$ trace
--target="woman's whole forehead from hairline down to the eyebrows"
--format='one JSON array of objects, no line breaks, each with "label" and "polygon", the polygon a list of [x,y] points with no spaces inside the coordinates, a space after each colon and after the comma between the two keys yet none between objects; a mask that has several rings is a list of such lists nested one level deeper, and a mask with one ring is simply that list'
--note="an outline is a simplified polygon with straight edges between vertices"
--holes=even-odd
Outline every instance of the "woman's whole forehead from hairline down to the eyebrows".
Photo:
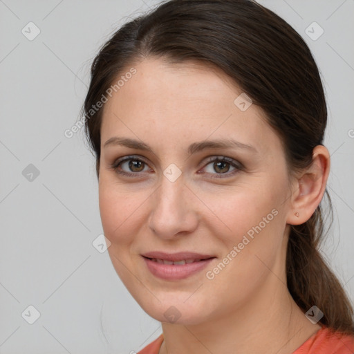
[{"label": "woman's whole forehead from hairline down to the eyebrows", "polygon": [[162,59],[145,59],[133,68],[136,73],[104,106],[102,145],[122,131],[131,138],[164,138],[174,145],[225,135],[245,144],[252,140],[259,149],[272,145],[266,140],[275,142],[263,111],[255,104],[241,111],[235,104],[241,88],[218,68]]}]

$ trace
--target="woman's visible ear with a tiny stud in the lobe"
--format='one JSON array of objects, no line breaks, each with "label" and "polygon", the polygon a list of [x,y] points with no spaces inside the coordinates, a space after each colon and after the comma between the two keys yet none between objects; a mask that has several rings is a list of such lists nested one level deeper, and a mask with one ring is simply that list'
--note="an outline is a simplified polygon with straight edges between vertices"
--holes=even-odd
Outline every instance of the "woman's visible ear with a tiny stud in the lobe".
[{"label": "woman's visible ear with a tiny stud in the lobe", "polygon": [[[323,145],[313,149],[313,162],[295,179],[287,223],[301,225],[313,215],[324,196],[330,171],[330,155]],[[296,216],[298,213],[298,216]]]}]

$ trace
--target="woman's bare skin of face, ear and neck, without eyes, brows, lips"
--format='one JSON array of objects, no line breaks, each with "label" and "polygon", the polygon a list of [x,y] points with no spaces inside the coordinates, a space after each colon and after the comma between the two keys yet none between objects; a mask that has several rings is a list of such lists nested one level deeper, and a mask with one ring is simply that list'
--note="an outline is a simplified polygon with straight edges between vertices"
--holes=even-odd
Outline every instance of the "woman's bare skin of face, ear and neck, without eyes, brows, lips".
[{"label": "woman's bare skin of face, ear and neck, without eyes, brows, lips", "polygon": [[[290,178],[279,136],[255,104],[246,111],[234,104],[242,91],[223,72],[156,58],[134,67],[136,75],[104,106],[100,214],[120,279],[143,310],[162,322],[160,354],[292,353],[320,326],[306,319],[286,287],[288,232],[291,224],[308,220],[322,199],[330,167],[327,149],[316,147],[313,166]],[[153,152],[104,147],[114,136],[145,142]],[[227,138],[257,152],[187,153],[193,142]],[[133,170],[127,162],[120,166],[133,177],[110,167],[131,155],[146,162]],[[232,158],[244,169],[233,174],[235,167],[227,162],[214,168],[207,160],[213,156]],[[182,172],[174,182],[163,174],[171,163]],[[277,216],[207,279],[207,270],[272,209]],[[153,276],[141,257],[153,250],[187,250],[216,259],[192,277],[166,281]],[[164,315],[170,306],[180,314],[174,323]]]}]

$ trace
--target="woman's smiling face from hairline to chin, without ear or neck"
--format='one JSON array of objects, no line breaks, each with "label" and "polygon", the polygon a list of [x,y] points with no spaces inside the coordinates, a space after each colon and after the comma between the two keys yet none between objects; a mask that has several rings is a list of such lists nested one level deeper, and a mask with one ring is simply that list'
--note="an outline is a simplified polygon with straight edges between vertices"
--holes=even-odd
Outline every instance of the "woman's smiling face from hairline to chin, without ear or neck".
[{"label": "woman's smiling face from hairline to chin, without ear or neck", "polygon": [[[160,322],[200,324],[269,298],[283,286],[293,213],[279,136],[220,71],[160,59],[134,68],[101,131],[100,214],[120,279]],[[148,252],[201,256],[165,264]]]}]

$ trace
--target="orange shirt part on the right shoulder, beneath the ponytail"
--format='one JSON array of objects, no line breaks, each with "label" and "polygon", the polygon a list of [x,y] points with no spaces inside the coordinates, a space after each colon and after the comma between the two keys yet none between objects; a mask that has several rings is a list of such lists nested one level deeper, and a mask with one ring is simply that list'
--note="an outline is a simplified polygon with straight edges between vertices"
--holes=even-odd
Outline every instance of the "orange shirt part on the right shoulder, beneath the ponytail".
[{"label": "orange shirt part on the right shoulder, beneath the ponytail", "polygon": [[345,335],[323,326],[293,354],[353,354],[354,335]]}]

